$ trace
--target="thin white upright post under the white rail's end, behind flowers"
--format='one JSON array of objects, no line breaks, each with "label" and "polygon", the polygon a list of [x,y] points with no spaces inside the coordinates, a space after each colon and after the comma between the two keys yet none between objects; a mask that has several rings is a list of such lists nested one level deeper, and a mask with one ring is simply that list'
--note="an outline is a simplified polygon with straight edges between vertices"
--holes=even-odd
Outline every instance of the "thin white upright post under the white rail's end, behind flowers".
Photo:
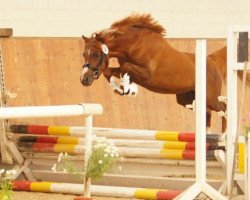
[{"label": "thin white upright post under the white rail's end, behind flowers", "polygon": [[[86,134],[85,134],[85,154],[84,154],[84,174],[86,175],[88,169],[88,160],[91,155],[91,148],[92,148],[92,127],[93,127],[93,115],[88,115],[85,119],[85,127],[86,127]],[[91,179],[84,178],[84,197],[90,197],[90,186],[91,186]]]}]

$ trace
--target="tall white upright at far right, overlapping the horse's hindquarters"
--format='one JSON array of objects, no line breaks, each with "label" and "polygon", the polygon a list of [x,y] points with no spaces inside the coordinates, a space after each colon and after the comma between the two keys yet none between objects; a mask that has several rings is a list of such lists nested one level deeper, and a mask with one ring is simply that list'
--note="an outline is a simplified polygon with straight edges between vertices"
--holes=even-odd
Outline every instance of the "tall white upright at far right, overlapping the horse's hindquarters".
[{"label": "tall white upright at far right, overlapping the horse's hindquarters", "polygon": [[237,33],[231,28],[227,36],[227,192],[232,188],[232,170],[234,162],[234,142],[237,132]]}]

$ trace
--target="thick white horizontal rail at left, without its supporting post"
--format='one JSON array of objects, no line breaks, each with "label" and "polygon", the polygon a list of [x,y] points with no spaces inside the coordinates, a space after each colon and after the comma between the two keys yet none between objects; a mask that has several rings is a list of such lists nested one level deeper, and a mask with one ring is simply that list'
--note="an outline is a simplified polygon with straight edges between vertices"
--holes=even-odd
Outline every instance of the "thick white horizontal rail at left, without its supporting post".
[{"label": "thick white horizontal rail at left, without its supporting post", "polygon": [[0,108],[0,119],[97,115],[102,112],[100,104],[9,107]]}]

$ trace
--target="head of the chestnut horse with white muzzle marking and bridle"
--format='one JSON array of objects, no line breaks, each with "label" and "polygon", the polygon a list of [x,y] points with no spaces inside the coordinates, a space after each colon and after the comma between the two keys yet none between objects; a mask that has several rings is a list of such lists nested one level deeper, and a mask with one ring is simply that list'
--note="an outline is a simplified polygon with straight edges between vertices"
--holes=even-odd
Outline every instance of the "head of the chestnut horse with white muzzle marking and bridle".
[{"label": "head of the chestnut horse with white muzzle marking and bridle", "polygon": [[109,49],[98,34],[93,35],[91,38],[85,36],[82,36],[82,38],[85,41],[83,53],[85,63],[83,64],[80,81],[84,86],[90,86],[108,67]]}]

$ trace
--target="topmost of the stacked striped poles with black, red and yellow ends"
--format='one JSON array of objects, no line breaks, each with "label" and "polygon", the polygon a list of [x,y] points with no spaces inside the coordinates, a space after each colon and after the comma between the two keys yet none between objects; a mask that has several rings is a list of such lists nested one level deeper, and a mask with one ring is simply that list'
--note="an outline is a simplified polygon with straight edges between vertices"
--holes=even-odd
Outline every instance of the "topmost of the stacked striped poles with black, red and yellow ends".
[{"label": "topmost of the stacked striped poles with black, red and yellow ends", "polygon": [[[86,128],[77,126],[41,126],[41,125],[15,125],[11,124],[8,131],[24,135],[64,135],[85,137]],[[111,139],[129,139],[129,140],[161,140],[161,141],[180,141],[194,142],[195,133],[163,130],[134,130],[118,128],[93,127],[97,136],[103,136]],[[207,142],[224,141],[219,134],[206,135]]]}]

